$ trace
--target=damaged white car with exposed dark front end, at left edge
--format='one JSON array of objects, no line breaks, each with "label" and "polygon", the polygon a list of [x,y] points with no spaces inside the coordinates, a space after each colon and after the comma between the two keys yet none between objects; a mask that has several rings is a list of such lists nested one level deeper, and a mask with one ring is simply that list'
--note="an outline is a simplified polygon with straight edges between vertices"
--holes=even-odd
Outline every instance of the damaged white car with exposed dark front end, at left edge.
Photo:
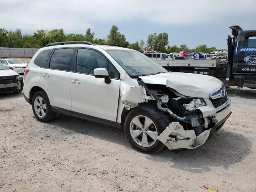
[{"label": "damaged white car with exposed dark front end, at left edge", "polygon": [[0,63],[0,93],[20,93],[23,90],[23,78],[20,74]]}]

